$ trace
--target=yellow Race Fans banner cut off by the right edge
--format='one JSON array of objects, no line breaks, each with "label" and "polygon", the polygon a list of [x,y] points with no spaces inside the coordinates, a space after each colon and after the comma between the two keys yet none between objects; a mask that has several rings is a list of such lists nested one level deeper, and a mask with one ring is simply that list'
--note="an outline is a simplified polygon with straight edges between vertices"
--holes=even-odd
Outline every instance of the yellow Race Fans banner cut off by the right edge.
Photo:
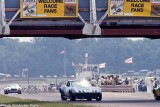
[{"label": "yellow Race Fans banner cut off by the right edge", "polygon": [[160,16],[160,0],[109,0],[108,16]]}]

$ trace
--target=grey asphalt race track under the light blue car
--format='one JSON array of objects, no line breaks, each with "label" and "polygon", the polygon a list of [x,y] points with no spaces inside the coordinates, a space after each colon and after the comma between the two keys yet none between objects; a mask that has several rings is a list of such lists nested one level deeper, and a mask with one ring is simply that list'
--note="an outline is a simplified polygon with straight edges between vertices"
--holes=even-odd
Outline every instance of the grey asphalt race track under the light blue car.
[{"label": "grey asphalt race track under the light blue car", "polygon": [[[3,94],[3,91],[0,91]],[[152,94],[147,94],[145,92],[136,93],[112,93],[103,92],[102,101],[86,101],[86,100],[76,100],[76,101],[61,101],[60,93],[22,93],[22,94],[8,94],[6,96],[18,97],[21,99],[36,99],[40,101],[50,101],[50,102],[65,102],[76,105],[92,105],[96,107],[160,107],[160,101],[154,100]]]}]

